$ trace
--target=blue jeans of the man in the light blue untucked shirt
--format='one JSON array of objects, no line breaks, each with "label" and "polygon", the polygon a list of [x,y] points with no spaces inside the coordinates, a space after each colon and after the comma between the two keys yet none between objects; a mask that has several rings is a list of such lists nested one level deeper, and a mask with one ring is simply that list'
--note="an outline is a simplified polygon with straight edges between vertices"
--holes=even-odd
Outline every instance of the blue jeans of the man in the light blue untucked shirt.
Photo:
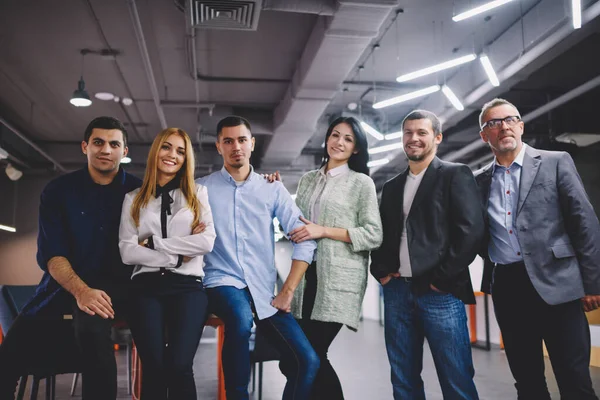
[{"label": "blue jeans of the man in the light blue untucked shirt", "polygon": [[[223,373],[227,400],[247,400],[250,381],[249,339],[253,304],[249,290],[233,286],[207,289],[210,309],[225,323]],[[281,354],[280,369],[287,378],[283,399],[308,399],[319,370],[319,357],[291,314],[278,312],[256,325]]]}]

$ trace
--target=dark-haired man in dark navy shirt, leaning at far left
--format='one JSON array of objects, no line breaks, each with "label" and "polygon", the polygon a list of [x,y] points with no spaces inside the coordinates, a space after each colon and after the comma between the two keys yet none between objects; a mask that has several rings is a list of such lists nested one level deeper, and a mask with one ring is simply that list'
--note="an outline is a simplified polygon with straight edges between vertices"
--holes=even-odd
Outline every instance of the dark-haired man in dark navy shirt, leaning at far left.
[{"label": "dark-haired man in dark navy shirt, leaning at far left", "polygon": [[131,276],[119,255],[119,222],[125,194],[141,181],[119,167],[127,131],[117,119],[90,122],[81,149],[87,167],[54,179],[41,195],[37,261],[44,276],[0,346],[0,399],[13,398],[25,372],[66,369],[74,343],[83,398],[116,398],[110,332],[115,311],[125,313]]}]

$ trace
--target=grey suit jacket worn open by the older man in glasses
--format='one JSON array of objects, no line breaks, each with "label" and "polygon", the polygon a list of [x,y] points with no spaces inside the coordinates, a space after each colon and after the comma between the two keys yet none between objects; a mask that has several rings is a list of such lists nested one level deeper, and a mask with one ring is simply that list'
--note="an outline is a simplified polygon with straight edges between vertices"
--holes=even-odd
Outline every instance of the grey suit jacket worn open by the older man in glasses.
[{"label": "grey suit jacket worn open by the older man in glasses", "polygon": [[[475,172],[487,210],[492,164]],[[600,224],[568,153],[527,146],[515,227],[527,273],[539,295],[555,305],[600,294]],[[487,212],[486,226],[487,226]],[[493,265],[486,259],[482,290],[490,292]]]}]

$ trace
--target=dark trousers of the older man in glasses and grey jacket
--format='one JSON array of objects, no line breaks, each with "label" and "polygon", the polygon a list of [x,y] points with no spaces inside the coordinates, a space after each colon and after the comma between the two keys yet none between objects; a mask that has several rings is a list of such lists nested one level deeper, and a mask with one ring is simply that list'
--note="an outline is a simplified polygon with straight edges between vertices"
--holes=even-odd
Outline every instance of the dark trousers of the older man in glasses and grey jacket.
[{"label": "dark trousers of the older man in glasses and grey jacket", "polygon": [[547,304],[523,263],[494,268],[492,299],[519,400],[550,399],[542,341],[561,399],[597,399],[589,369],[590,328],[579,300]]}]

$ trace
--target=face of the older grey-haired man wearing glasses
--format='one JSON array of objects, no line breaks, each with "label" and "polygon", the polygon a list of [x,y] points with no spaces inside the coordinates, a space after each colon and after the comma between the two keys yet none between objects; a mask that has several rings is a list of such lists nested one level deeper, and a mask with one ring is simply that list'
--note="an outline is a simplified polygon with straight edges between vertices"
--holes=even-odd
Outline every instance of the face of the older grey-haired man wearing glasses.
[{"label": "face of the older grey-haired man wearing glasses", "polygon": [[[492,119],[504,119],[515,115],[519,115],[519,111],[515,107],[510,104],[502,104],[487,110],[481,122],[484,125]],[[524,127],[523,121],[518,121],[514,125],[502,122],[496,129],[486,126],[479,132],[479,135],[484,142],[490,145],[495,154],[518,153],[523,147],[521,137],[523,136]]]}]

